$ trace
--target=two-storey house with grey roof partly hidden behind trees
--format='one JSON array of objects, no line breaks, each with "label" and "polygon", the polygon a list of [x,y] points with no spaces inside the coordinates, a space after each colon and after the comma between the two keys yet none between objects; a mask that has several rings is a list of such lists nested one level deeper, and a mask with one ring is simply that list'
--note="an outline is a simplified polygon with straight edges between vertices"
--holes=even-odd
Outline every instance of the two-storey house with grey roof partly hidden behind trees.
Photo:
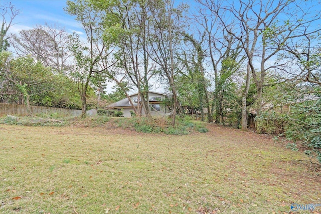
[{"label": "two-storey house with grey roof partly hidden behind trees", "polygon": [[[138,100],[138,93],[129,95],[129,97],[135,107],[137,107],[138,102],[141,103],[141,100],[140,101]],[[166,97],[165,94],[149,91],[148,97],[149,97],[148,101],[149,101],[150,114],[152,116],[164,116],[170,113],[169,107],[163,103]],[[118,102],[110,104],[106,108],[112,109],[114,111],[122,111],[124,113],[123,114],[124,117],[131,117],[130,112],[131,111],[134,112],[134,109],[131,106],[128,98],[125,98],[125,99],[119,100]],[[145,115],[143,108],[141,110],[141,115]]]}]

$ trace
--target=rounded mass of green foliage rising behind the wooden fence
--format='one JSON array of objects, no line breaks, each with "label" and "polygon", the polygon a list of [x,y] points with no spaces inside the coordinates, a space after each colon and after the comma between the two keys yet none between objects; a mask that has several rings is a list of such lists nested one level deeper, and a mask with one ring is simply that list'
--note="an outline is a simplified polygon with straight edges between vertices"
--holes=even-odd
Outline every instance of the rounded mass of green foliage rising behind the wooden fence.
[{"label": "rounded mass of green foliage rising behind the wooden fence", "polygon": [[13,58],[0,53],[1,102],[49,107],[79,108],[76,85],[63,75],[54,75],[31,57]]}]

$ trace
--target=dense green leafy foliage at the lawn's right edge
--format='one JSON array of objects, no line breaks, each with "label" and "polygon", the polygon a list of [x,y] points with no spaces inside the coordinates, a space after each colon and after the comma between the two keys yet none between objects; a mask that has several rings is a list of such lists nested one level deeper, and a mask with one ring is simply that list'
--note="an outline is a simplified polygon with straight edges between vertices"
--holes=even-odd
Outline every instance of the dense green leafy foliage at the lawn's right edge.
[{"label": "dense green leafy foliage at the lawn's right edge", "polygon": [[[311,90],[304,88],[306,92]],[[264,133],[280,134],[293,142],[301,142],[306,147],[305,153],[321,162],[321,88],[312,88],[314,93],[299,93],[299,97],[276,93],[286,104],[275,103],[269,111],[257,117],[257,123]]]}]

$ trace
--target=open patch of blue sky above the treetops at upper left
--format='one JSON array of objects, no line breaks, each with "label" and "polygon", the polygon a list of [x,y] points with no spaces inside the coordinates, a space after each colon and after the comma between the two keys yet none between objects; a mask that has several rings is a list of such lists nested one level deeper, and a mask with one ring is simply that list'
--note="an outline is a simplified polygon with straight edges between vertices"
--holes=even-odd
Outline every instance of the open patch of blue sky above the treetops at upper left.
[{"label": "open patch of blue sky above the treetops at upper left", "polygon": [[81,26],[73,17],[65,13],[66,0],[1,0],[1,5],[12,3],[21,14],[14,20],[15,25],[10,33],[18,33],[23,29],[32,29],[37,24],[59,25],[68,33],[82,32]]}]

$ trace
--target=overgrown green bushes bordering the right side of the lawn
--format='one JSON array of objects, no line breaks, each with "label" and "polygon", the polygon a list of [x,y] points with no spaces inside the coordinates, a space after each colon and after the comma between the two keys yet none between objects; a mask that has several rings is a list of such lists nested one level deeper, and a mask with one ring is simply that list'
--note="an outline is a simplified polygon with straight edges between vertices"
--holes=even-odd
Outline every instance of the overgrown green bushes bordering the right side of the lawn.
[{"label": "overgrown green bushes bordering the right side of the lawn", "polygon": [[264,112],[256,117],[257,128],[263,133],[282,135],[306,147],[305,154],[321,162],[321,92],[317,100],[295,103],[288,113]]}]

